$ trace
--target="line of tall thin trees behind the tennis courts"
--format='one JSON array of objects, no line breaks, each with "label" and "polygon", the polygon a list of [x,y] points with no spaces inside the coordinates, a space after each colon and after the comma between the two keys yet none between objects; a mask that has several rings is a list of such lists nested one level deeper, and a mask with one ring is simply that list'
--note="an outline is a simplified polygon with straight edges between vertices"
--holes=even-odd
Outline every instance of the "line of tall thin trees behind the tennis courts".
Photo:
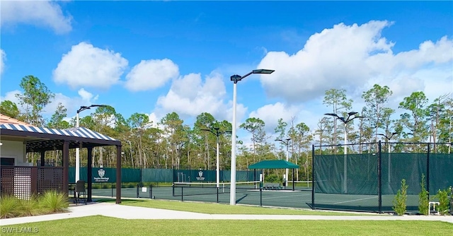
[{"label": "line of tall thin trees behind the tennis courts", "polygon": [[[67,122],[67,109],[59,103],[52,117],[42,116],[44,107],[55,98],[47,86],[35,76],[22,78],[20,86],[23,93],[17,94],[19,109],[10,100],[1,101],[0,112],[28,124],[46,126],[54,129],[67,129],[76,126],[75,118]],[[319,148],[323,154],[342,153],[341,138],[346,134],[349,143],[375,143],[379,140],[394,142],[430,142],[452,143],[453,98],[451,94],[440,95],[430,102],[423,92],[417,91],[399,102],[399,108],[405,112],[396,116],[395,110],[386,107],[392,91],[388,86],[374,85],[362,93],[365,107],[352,114],[352,100],[346,90],[333,88],[326,90],[323,104],[337,116],[324,116],[319,119],[316,129],[311,130],[304,122],[297,123],[297,117],[289,121],[278,119],[275,135],[266,134],[265,122],[259,117],[250,117],[239,129],[251,134],[251,140],[237,141],[238,170],[246,170],[248,165],[260,160],[285,159],[286,150],[289,160],[301,168],[297,170],[297,179],[309,179],[311,175],[311,145],[330,145],[331,148]],[[349,113],[349,114],[348,114]],[[352,114],[351,120],[345,119]],[[398,119],[392,119],[398,117]],[[338,122],[340,120],[340,122]],[[343,122],[342,122],[343,121]],[[358,124],[354,124],[357,122]],[[222,170],[229,170],[231,164],[231,123],[215,119],[212,114],[199,114],[192,126],[184,124],[176,112],[166,114],[158,124],[149,121],[147,114],[134,113],[123,117],[114,107],[97,107],[94,112],[79,119],[84,126],[101,134],[116,138],[122,142],[122,167],[134,168],[202,168],[214,170],[216,167],[217,136],[205,131],[218,128],[219,165]],[[281,140],[281,141],[276,141]],[[246,144],[251,143],[251,144]],[[364,144],[365,145],[365,144]],[[399,148],[399,149],[397,149]],[[433,145],[435,153],[451,153],[451,145]],[[348,149],[350,149],[348,147]],[[362,145],[348,150],[362,153]],[[395,146],[394,151],[417,151],[411,146]],[[418,150],[420,151],[420,150]],[[71,151],[70,165],[74,165],[75,154]],[[86,163],[86,155],[81,150],[81,165]],[[114,166],[115,148],[99,147],[93,150],[93,166]],[[35,161],[35,155],[29,155]],[[61,163],[61,153],[46,153],[46,158]],[[270,171],[280,175],[281,172]],[[268,173],[269,174],[269,173]]]}]

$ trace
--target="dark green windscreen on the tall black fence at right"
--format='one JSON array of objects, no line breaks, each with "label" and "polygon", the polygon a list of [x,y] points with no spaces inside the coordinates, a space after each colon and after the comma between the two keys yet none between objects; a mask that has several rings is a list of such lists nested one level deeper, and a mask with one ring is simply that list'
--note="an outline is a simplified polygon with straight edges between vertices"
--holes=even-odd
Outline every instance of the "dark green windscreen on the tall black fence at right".
[{"label": "dark green windscreen on the tall black fence at right", "polygon": [[[429,175],[428,175],[429,165]],[[379,194],[379,153],[316,155],[315,192],[325,194]],[[381,153],[382,195],[396,194],[406,179],[408,194],[420,193],[422,175],[430,194],[453,185],[452,154]]]}]

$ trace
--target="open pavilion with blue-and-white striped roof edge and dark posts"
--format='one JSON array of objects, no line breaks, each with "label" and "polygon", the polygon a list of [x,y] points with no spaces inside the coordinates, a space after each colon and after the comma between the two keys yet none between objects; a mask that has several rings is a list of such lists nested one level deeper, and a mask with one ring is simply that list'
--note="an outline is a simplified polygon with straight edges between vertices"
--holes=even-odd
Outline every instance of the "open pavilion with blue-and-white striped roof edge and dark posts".
[{"label": "open pavilion with blue-and-white striped roof edge and dark posts", "polygon": [[70,129],[47,129],[25,124],[0,124],[1,140],[23,141],[26,152],[41,153],[40,165],[45,165],[45,152],[61,150],[63,153],[63,190],[69,192],[69,149],[86,148],[88,151],[87,200],[91,199],[93,184],[93,148],[116,146],[116,203],[121,203],[121,141],[84,127]]}]

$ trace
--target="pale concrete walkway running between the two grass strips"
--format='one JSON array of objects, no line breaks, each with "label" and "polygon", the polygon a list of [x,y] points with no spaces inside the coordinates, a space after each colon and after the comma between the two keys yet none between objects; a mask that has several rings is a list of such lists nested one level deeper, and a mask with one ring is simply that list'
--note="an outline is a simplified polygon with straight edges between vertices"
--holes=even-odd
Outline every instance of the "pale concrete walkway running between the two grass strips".
[{"label": "pale concrete walkway running between the two grass strips", "polygon": [[186,211],[172,211],[139,206],[125,206],[114,203],[88,203],[70,206],[69,213],[45,216],[28,216],[1,219],[0,225],[15,225],[38,221],[59,220],[84,216],[109,216],[122,219],[189,219],[189,220],[430,220],[453,223],[453,216],[298,216],[298,215],[226,215]]}]

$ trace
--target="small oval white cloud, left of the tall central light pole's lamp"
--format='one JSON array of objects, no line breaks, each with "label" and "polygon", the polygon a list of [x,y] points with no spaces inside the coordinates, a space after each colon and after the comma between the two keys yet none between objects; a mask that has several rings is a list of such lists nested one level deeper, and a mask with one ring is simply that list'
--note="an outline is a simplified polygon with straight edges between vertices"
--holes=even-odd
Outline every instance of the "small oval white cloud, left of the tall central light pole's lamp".
[{"label": "small oval white cloud, left of the tall central light pole's lamp", "polygon": [[178,75],[178,66],[170,59],[140,61],[127,74],[125,87],[132,91],[155,89]]}]

